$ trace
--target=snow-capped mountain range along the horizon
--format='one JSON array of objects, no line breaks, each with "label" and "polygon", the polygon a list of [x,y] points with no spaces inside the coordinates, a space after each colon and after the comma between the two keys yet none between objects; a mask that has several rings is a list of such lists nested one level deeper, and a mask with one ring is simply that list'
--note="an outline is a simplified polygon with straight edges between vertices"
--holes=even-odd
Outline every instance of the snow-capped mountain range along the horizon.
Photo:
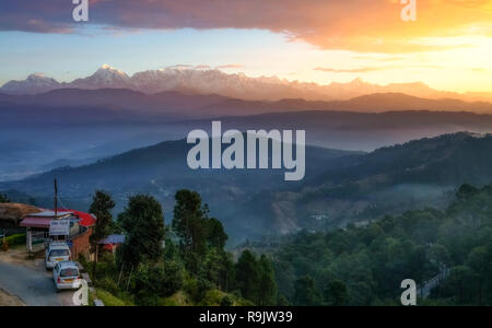
[{"label": "snow-capped mountain range along the horizon", "polygon": [[58,89],[129,89],[148,94],[179,91],[187,94],[218,94],[247,101],[279,101],[304,98],[308,101],[349,99],[374,93],[405,93],[425,98],[459,98],[464,101],[491,101],[492,94],[453,93],[429,87],[424,83],[371,84],[355,79],[349,83],[319,85],[276,77],[249,78],[244,73],[227,74],[218,69],[165,68],[134,73],[117,70],[108,65],[94,74],[72,82],[58,82],[36,73],[24,81],[10,81],[0,87],[0,93],[33,95]]}]

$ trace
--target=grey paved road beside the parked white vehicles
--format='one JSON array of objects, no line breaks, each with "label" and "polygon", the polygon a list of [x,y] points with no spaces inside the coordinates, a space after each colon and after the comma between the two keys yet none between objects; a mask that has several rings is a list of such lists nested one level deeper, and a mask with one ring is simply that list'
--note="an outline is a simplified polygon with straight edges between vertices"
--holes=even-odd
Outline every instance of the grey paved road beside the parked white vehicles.
[{"label": "grey paved road beside the parked white vehicles", "polygon": [[27,306],[71,306],[73,292],[56,293],[51,272],[0,261],[0,289]]}]

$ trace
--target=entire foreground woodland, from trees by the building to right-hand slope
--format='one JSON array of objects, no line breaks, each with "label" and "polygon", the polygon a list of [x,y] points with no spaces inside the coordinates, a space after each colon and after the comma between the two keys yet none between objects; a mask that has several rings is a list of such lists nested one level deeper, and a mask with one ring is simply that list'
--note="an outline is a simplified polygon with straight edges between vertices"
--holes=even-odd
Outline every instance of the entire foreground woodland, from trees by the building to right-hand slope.
[{"label": "entire foreground woodland, from trees by the building to right-hand slope", "polygon": [[[82,259],[93,297],[108,305],[400,305],[403,280],[422,288],[438,277],[419,305],[492,305],[492,185],[462,185],[445,210],[301,231],[231,251],[198,192],[179,190],[175,203],[166,224],[151,196],[130,197],[113,218],[112,197],[94,195],[98,259]],[[126,235],[115,255],[96,248],[110,233]]]}]

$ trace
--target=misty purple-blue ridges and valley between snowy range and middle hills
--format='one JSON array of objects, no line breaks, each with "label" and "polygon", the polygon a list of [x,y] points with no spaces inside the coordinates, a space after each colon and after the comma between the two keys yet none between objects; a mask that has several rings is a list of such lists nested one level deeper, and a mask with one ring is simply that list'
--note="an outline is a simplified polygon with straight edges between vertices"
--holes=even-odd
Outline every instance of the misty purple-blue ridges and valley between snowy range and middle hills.
[{"label": "misty purple-blue ridges and valley between snowy range and middle hills", "polygon": [[308,144],[373,151],[443,133],[492,131],[491,115],[471,112],[492,113],[492,105],[391,93],[331,102],[244,101],[128,89],[0,94],[0,180],[185,138],[194,129],[210,129],[214,119],[224,129],[242,131],[304,129]]}]

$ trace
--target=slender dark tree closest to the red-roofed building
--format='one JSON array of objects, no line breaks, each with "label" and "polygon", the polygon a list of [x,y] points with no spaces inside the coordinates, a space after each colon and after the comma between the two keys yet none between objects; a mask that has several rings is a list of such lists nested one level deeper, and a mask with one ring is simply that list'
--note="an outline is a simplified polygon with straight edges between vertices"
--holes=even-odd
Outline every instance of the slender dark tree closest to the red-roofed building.
[{"label": "slender dark tree closest to the red-roofed building", "polygon": [[92,198],[92,204],[89,209],[91,214],[96,216],[96,224],[94,231],[90,237],[92,251],[95,253],[93,276],[95,277],[96,263],[99,256],[98,242],[106,238],[110,234],[113,225],[112,210],[115,208],[115,202],[112,197],[105,191],[97,190]]}]

